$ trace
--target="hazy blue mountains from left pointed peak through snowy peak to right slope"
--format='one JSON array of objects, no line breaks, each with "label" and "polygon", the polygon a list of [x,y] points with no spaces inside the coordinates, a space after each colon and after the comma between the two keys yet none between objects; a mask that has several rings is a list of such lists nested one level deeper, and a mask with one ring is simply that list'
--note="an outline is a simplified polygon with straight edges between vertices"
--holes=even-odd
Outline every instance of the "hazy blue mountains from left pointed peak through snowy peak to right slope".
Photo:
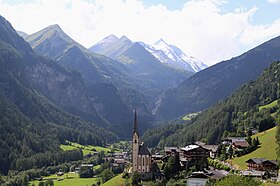
[{"label": "hazy blue mountains from left pointed peak through snowy peak to right slope", "polygon": [[[143,129],[155,120],[170,120],[204,110],[242,84],[256,79],[280,57],[278,38],[206,68],[201,61],[163,39],[148,45],[133,42],[126,36],[110,35],[86,49],[58,25],[32,35],[21,34],[37,54],[81,74],[90,100],[88,108],[95,115],[90,115],[91,111],[81,105],[69,107],[69,103],[49,92],[44,95],[59,101],[62,109],[113,131],[119,130],[119,124],[130,129],[129,115],[135,107],[145,121]],[[122,132],[117,131],[124,135]]]}]

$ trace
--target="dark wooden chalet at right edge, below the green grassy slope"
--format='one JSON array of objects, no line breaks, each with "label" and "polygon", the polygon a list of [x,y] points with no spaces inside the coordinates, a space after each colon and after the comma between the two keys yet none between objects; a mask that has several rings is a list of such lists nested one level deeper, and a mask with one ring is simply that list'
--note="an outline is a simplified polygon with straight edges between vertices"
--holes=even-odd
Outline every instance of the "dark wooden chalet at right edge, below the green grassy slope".
[{"label": "dark wooden chalet at right edge, below the green grassy slope", "polygon": [[276,160],[267,160],[265,158],[251,158],[246,161],[248,169],[257,171],[274,171],[278,169]]}]

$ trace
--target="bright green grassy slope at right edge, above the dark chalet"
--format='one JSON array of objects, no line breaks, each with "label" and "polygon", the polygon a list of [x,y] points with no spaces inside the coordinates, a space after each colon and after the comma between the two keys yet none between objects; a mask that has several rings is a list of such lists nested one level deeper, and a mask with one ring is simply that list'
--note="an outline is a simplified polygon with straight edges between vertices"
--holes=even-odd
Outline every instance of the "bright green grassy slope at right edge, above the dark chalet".
[{"label": "bright green grassy slope at right edge, above the dark chalet", "polygon": [[252,138],[259,138],[261,147],[257,150],[246,154],[241,157],[234,158],[232,163],[236,165],[237,168],[245,170],[247,168],[246,161],[250,158],[266,158],[269,160],[276,159],[276,127],[269,129],[267,131],[255,134]]}]

